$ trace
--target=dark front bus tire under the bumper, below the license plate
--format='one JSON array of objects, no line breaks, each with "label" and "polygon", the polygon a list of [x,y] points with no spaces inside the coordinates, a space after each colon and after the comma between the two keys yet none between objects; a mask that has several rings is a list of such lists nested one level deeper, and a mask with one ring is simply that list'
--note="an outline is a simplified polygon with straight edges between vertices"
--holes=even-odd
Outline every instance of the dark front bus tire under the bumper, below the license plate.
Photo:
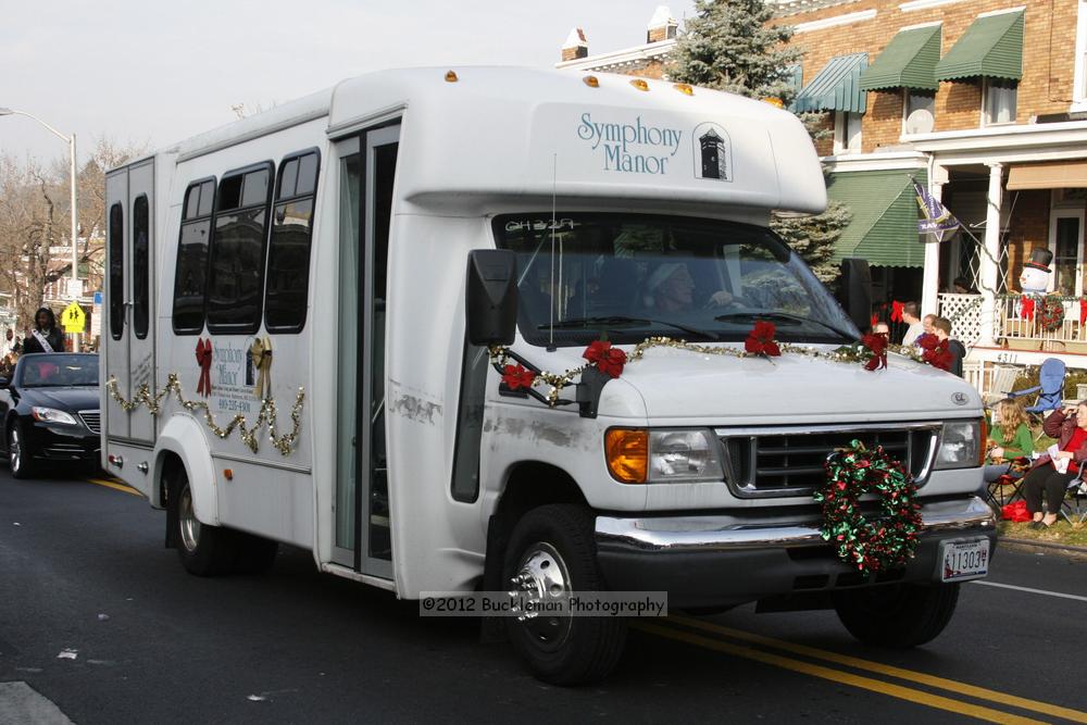
[{"label": "dark front bus tire under the bumper, below the license plate", "polygon": [[895,649],[935,639],[958,603],[958,584],[898,584],[835,595],[835,611],[849,634],[865,645]]}]

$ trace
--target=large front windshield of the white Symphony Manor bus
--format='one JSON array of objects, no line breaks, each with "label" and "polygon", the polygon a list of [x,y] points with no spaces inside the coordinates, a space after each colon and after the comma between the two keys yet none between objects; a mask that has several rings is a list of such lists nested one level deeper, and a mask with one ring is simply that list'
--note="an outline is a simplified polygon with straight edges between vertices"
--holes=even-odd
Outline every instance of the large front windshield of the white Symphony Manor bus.
[{"label": "large front windshield of the white Symphony Manor bus", "polygon": [[741,340],[755,321],[777,339],[837,342],[857,327],[799,255],[764,227],[613,213],[501,215],[517,254],[518,326],[532,345],[650,336]]}]

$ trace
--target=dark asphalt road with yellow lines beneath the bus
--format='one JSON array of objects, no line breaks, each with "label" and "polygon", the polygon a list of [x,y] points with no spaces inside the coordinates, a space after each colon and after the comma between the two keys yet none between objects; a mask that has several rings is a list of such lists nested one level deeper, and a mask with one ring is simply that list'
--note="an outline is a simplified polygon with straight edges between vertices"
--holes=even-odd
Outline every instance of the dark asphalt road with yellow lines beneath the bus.
[{"label": "dark asphalt road with yellow lines beneath the bus", "polygon": [[747,607],[645,620],[604,685],[562,689],[476,621],[420,618],[304,551],[265,576],[190,576],[163,526],[122,490],[0,471],[0,721],[1087,723],[1087,561],[1053,552],[1001,550],[988,582],[1007,586],[963,585],[916,650]]}]

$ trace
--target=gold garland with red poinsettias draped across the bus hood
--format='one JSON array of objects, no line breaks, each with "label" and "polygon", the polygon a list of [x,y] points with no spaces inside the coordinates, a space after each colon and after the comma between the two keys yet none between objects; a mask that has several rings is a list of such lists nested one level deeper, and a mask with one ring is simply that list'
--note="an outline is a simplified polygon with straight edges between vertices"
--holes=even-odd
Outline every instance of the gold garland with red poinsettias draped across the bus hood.
[{"label": "gold garland with red poinsettias draped across the bus hood", "polygon": [[921,350],[912,346],[891,345],[886,335],[865,335],[859,342],[824,351],[812,346],[778,342],[774,339],[776,333],[777,329],[772,322],[759,321],[754,323],[754,327],[744,341],[742,350],[720,345],[698,345],[671,337],[649,337],[634,346],[630,354],[613,347],[607,339],[601,339],[591,342],[582,353],[586,360],[585,364],[562,373],[532,371],[514,360],[510,348],[502,345],[490,347],[490,361],[502,371],[502,384],[511,390],[529,390],[539,385],[550,386],[551,389],[546,396],[546,401],[551,408],[559,404],[559,396],[562,390],[572,385],[587,368],[595,367],[611,378],[617,378],[623,374],[623,368],[627,363],[641,360],[646,352],[653,348],[687,350],[702,355],[765,358],[766,360],[787,352],[829,362],[860,363],[867,371],[887,367],[887,353],[892,352],[944,371],[951,368],[951,352],[948,349],[947,340],[938,340],[933,335],[927,336],[922,341]]}]

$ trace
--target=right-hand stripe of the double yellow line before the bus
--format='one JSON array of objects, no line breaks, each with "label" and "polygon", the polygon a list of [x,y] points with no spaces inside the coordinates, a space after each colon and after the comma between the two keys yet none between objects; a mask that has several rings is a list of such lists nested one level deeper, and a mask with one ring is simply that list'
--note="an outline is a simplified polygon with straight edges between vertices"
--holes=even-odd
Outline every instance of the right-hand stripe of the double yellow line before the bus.
[{"label": "right-hand stripe of the double yellow line before the bus", "polygon": [[902,667],[896,667],[880,662],[873,662],[872,660],[862,660],[848,654],[839,654],[837,652],[815,649],[814,647],[796,645],[782,639],[774,639],[773,637],[765,637],[763,635],[744,632],[742,629],[734,629],[732,627],[725,627],[711,622],[702,622],[701,620],[694,620],[687,616],[672,615],[669,618],[696,629],[712,632],[719,635],[724,635],[725,637],[732,637],[733,639],[772,647],[774,649],[784,650],[794,654],[803,654],[804,657],[810,657],[816,660],[825,660],[827,662],[834,662],[835,664],[844,664],[849,667],[855,667],[857,670],[866,670],[880,675],[889,675],[899,679],[917,683],[919,685],[927,685],[928,687],[948,690],[958,695],[965,695],[979,700],[989,700],[998,704],[1007,704],[1012,705],[1013,708],[1033,710],[1038,713],[1071,720],[1075,723],[1087,723],[1087,712],[1073,710],[1071,708],[1062,708],[1048,702],[1028,700],[1026,698],[1016,697],[1007,692],[990,690],[975,685],[966,685],[965,683],[937,677],[936,675],[928,675],[923,672],[903,670]]}]

